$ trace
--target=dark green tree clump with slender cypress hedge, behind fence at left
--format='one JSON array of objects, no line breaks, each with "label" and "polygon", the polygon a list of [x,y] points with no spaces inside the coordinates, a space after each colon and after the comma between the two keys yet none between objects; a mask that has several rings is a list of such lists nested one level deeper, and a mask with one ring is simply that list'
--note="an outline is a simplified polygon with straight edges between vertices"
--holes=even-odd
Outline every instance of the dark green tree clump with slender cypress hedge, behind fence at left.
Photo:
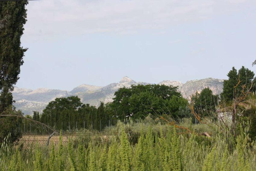
[{"label": "dark green tree clump with slender cypress hedge, behind fence at left", "polygon": [[[36,119],[34,119],[36,118]],[[38,120],[39,115],[34,112],[33,119]],[[77,125],[92,125],[93,129],[100,130],[108,123],[102,122],[109,119],[108,110],[101,103],[98,109],[89,104],[82,104],[77,96],[67,98],[56,98],[55,101],[49,102],[40,117],[40,122],[51,125],[58,130],[72,130],[72,123]],[[75,127],[76,128],[76,127]]]}]

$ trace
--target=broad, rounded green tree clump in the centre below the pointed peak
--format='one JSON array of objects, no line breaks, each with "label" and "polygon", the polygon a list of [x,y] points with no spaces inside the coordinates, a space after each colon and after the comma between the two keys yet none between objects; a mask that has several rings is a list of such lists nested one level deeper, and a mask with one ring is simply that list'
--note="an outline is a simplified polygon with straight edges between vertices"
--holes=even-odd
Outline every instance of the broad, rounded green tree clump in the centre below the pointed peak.
[{"label": "broad, rounded green tree clump in the centre below the pointed peak", "polygon": [[148,114],[171,113],[177,116],[188,105],[177,87],[167,85],[132,85],[115,92],[113,102],[107,104],[114,117],[145,118]]}]

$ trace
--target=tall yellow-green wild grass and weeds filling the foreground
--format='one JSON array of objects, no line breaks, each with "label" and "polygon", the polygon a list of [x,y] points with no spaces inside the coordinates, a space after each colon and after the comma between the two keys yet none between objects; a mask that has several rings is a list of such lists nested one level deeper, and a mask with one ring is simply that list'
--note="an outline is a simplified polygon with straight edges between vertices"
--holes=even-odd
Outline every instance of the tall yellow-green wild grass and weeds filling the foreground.
[{"label": "tall yellow-green wild grass and weeds filling the foreground", "polygon": [[[1,170],[256,170],[256,144],[246,130],[237,137],[213,123],[180,125],[187,133],[147,118],[105,131],[117,134],[79,134],[67,144],[7,146],[0,149]],[[110,130],[109,130],[110,129]],[[198,133],[207,131],[211,137]],[[79,133],[88,133],[80,130]]]}]

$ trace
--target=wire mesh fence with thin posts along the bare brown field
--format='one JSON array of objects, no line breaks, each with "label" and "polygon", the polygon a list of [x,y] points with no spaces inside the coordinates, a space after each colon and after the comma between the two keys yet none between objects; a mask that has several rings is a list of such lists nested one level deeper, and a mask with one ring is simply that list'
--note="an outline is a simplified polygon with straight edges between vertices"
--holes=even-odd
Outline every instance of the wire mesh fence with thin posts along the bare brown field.
[{"label": "wire mesh fence with thin posts along the bare brown field", "polygon": [[[170,122],[178,123],[179,120],[170,120]],[[195,121],[192,119],[192,121]],[[76,121],[76,122],[59,122],[53,124],[36,124],[34,122],[23,122],[22,125],[18,126],[18,131],[22,133],[22,138],[19,140],[20,144],[29,148],[29,146],[33,146],[38,143],[41,145],[45,145],[47,143],[48,137],[53,133],[52,129],[56,131],[62,131],[63,140],[62,143],[67,143],[69,138],[92,138],[98,137],[102,140],[109,140],[111,137],[120,134],[117,129],[113,128],[117,125],[119,120],[105,120],[105,121],[95,121],[95,122],[86,122],[86,121]],[[132,120],[125,119],[122,121],[123,124],[131,124],[135,126],[139,123],[147,123],[145,120]],[[149,122],[148,122],[149,123]],[[196,121],[195,121],[196,123]],[[150,121],[150,124],[167,124],[164,120],[153,120]],[[111,128],[112,127],[112,128]],[[50,144],[54,143],[55,145],[59,142],[59,134],[54,134],[54,136],[50,139]]]}]

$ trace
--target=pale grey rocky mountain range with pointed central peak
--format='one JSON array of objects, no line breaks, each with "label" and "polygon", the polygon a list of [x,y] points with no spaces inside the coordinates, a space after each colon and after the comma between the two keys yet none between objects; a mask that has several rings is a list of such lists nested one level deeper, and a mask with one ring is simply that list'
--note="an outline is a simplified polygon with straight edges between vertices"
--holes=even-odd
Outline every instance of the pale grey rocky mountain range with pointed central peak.
[{"label": "pale grey rocky mountain range with pointed central peak", "polygon": [[[196,91],[200,92],[202,89],[209,87],[214,94],[220,94],[223,89],[223,79],[206,78],[200,80],[187,81],[182,83],[180,81],[165,80],[159,82],[159,85],[173,85],[178,86],[178,91],[181,92],[184,98],[189,98],[190,95]],[[33,111],[42,112],[50,101],[55,98],[78,96],[84,104],[98,106],[100,102],[108,103],[114,98],[114,93],[119,88],[129,88],[131,85],[147,85],[147,82],[135,82],[127,76],[124,76],[119,82],[111,83],[104,87],[82,84],[71,91],[38,88],[36,90],[14,87],[12,91],[14,106],[21,110],[24,114],[33,114]]]}]

